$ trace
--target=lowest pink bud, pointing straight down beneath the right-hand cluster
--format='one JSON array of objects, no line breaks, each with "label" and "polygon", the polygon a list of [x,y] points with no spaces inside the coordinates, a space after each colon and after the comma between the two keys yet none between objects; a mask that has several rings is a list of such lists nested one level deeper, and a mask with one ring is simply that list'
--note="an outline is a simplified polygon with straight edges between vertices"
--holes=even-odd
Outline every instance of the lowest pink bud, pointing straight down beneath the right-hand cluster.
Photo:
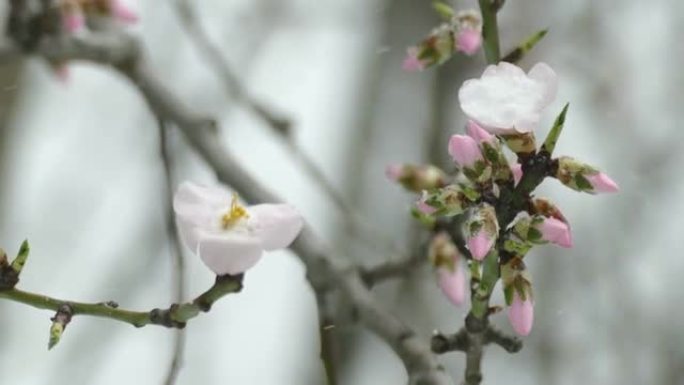
[{"label": "lowest pink bud, pointing straight down beneath the right-hand cluster", "polygon": [[508,308],[508,320],[518,335],[526,336],[534,321],[532,283],[520,258],[512,258],[501,266],[504,297]]}]

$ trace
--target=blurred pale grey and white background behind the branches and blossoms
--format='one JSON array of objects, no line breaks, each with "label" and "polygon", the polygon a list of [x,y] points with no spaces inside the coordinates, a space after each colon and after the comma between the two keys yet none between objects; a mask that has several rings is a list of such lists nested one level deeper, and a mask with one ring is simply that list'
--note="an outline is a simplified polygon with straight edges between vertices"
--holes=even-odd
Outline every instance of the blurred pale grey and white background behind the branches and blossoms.
[{"label": "blurred pale grey and white background behind the branches and blossoms", "polygon": [[[220,118],[225,145],[317,232],[349,258],[387,258],[350,241],[342,216],[302,171],[285,142],[226,96],[181,27],[170,0],[132,4],[132,28],[167,85]],[[457,1],[456,8],[476,7]],[[408,45],[438,23],[420,0],[203,0],[201,24],[249,93],[295,122],[294,140],[369,222],[405,250],[418,228],[414,197],[388,182],[393,162],[448,165],[446,143],[463,131],[456,96],[478,77],[483,55],[405,73]],[[0,7],[2,14],[7,4]],[[549,180],[571,222],[575,247],[539,247],[526,258],[536,319],[524,349],[487,349],[485,384],[684,384],[684,3],[508,1],[499,16],[502,50],[550,27],[520,65],[559,75],[545,135],[570,102],[558,154],[606,171],[617,195],[590,196]],[[81,301],[116,300],[147,310],[173,298],[165,231],[168,194],[154,116],[113,71],[69,65],[60,82],[38,59],[0,64],[0,246],[32,253],[20,288]],[[184,138],[170,133],[174,183],[215,183]],[[212,274],[186,251],[188,295]],[[443,298],[427,267],[374,289],[426,339],[454,332],[467,307]],[[503,304],[500,290],[494,303]],[[48,352],[50,312],[0,302],[1,384],[161,384],[174,332],[136,330],[76,317]],[[377,337],[343,319],[334,330],[340,383],[403,384],[400,361]],[[505,315],[493,317],[510,332]],[[245,289],[190,322],[179,384],[323,384],[318,319],[304,269],[273,252],[246,275]],[[460,353],[440,357],[460,381]]]}]

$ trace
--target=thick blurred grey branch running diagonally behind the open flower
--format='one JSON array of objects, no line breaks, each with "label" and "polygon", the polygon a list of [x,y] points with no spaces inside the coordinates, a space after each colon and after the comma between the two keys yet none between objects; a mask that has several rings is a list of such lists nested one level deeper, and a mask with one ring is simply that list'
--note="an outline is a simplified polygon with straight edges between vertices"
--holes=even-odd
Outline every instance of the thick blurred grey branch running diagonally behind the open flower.
[{"label": "thick blurred grey branch running diagonally behind the open flower", "polygon": [[[47,59],[89,60],[113,66],[138,87],[155,114],[181,129],[188,142],[214,168],[219,180],[232,185],[249,201],[280,201],[254,180],[222,145],[215,120],[188,107],[147,68],[137,40],[109,31],[87,37],[49,39],[40,45],[38,53]],[[452,384],[426,341],[384,310],[364,284],[358,269],[334,258],[334,252],[309,226],[304,227],[291,249],[306,265],[314,290],[327,290],[330,285],[338,288],[356,309],[359,320],[385,340],[404,362],[411,384]]]}]

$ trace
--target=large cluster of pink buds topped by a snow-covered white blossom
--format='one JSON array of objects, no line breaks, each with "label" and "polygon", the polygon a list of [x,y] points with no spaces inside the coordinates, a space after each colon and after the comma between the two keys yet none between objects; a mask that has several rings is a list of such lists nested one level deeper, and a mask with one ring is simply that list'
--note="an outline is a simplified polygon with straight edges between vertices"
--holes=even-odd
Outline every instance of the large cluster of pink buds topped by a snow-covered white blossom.
[{"label": "large cluster of pink buds topped by a snow-covered white blossom", "polygon": [[[467,134],[453,135],[448,143],[457,166],[455,175],[434,166],[424,166],[435,175],[432,178],[416,178],[420,166],[388,170],[391,179],[420,193],[414,213],[433,229],[428,255],[444,294],[454,304],[464,301],[466,279],[460,261],[467,259],[473,309],[482,298],[486,305],[496,281],[480,286],[484,265],[498,264],[495,271],[503,282],[508,317],[520,335],[530,333],[534,318],[525,256],[537,245],[569,248],[573,243],[561,211],[551,201],[533,197],[533,190],[546,177],[592,194],[618,190],[614,181],[594,167],[569,157],[552,158],[567,106],[537,148],[534,130],[556,89],[556,74],[544,63],[527,74],[513,64],[491,65],[482,77],[466,81],[459,90],[461,109],[469,121]],[[516,155],[515,162],[509,161],[506,149]],[[465,240],[469,255],[459,253],[456,239]]]}]

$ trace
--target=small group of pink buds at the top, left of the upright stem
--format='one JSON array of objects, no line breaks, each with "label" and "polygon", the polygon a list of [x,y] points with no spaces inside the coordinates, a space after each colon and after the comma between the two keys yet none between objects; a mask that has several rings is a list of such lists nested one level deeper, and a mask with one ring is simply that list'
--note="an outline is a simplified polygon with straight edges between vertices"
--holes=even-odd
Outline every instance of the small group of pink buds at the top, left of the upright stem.
[{"label": "small group of pink buds at the top, left of the upright stem", "polygon": [[444,3],[436,3],[435,8],[446,21],[423,41],[407,49],[403,64],[405,71],[422,71],[442,64],[457,52],[473,55],[482,46],[482,19],[477,11],[456,13]]}]

